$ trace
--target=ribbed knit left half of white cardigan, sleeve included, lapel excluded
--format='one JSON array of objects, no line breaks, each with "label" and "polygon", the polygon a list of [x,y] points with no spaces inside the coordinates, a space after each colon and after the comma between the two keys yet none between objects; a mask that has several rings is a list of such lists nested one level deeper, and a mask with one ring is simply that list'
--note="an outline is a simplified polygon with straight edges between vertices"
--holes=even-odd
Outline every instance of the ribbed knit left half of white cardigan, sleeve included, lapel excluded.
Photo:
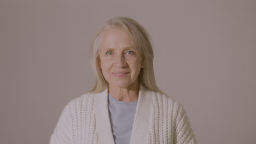
[{"label": "ribbed knit left half of white cardigan, sleeve included, lapel excluded", "polygon": [[92,113],[92,96],[75,98],[65,106],[51,135],[50,143],[98,143],[96,119]]}]

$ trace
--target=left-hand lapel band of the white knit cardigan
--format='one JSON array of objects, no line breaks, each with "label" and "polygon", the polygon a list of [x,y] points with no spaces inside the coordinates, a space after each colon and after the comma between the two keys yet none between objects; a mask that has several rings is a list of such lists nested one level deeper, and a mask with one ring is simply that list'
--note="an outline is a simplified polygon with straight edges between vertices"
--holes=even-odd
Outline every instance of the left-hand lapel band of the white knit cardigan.
[{"label": "left-hand lapel band of the white knit cardigan", "polygon": [[94,98],[94,112],[96,117],[96,131],[99,143],[114,144],[112,128],[108,113],[108,89],[101,93],[96,93]]}]

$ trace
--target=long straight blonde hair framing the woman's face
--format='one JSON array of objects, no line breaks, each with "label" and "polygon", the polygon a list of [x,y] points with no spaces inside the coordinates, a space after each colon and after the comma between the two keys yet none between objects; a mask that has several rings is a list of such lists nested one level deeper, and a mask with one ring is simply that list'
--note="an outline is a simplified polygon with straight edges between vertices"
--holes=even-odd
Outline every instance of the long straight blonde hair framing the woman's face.
[{"label": "long straight blonde hair framing the woman's face", "polygon": [[123,28],[130,35],[133,44],[135,45],[137,56],[143,61],[143,68],[141,68],[138,75],[139,82],[146,88],[163,93],[155,82],[153,68],[154,53],[149,40],[149,34],[137,21],[129,17],[115,17],[108,20],[92,40],[92,69],[96,74],[96,82],[89,93],[100,93],[108,86],[108,82],[104,79],[100,65],[98,64],[98,50],[101,46],[103,33],[113,27]]}]

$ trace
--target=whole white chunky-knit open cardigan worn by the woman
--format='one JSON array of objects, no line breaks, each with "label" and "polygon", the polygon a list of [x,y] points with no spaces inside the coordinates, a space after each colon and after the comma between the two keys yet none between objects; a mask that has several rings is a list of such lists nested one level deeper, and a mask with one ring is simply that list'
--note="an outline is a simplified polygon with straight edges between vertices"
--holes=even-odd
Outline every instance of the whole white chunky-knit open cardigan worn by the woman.
[{"label": "whole white chunky-knit open cardigan worn by the woman", "polygon": [[[63,109],[50,144],[113,143],[108,91],[83,94]],[[140,85],[130,143],[194,144],[182,104]]]}]

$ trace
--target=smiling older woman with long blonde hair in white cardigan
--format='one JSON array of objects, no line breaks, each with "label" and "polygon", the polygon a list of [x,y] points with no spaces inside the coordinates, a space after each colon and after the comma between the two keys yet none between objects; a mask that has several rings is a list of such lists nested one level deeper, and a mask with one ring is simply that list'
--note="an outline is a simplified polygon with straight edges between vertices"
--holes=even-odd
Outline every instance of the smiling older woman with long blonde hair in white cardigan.
[{"label": "smiling older woman with long blonde hair in white cardigan", "polygon": [[156,86],[148,33],[110,19],[92,42],[94,88],[63,109],[50,143],[196,143],[183,105]]}]

